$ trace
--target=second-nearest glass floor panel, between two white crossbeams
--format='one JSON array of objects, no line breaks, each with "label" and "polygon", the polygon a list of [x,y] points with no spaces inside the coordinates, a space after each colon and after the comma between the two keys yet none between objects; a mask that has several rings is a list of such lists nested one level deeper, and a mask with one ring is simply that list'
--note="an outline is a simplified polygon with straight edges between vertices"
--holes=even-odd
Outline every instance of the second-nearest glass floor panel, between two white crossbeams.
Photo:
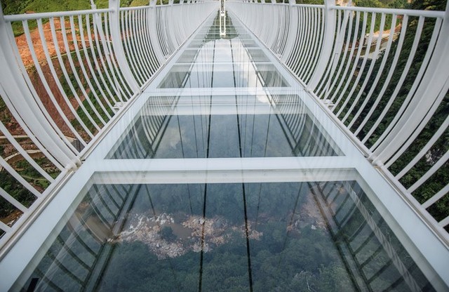
[{"label": "second-nearest glass floor panel, between two white crossbeams", "polygon": [[[152,100],[109,158],[309,157],[340,154],[296,95],[162,98]],[[183,100],[199,102],[182,113]],[[190,101],[187,100],[187,101]],[[264,101],[261,102],[260,100]],[[177,104],[175,110],[169,105]],[[234,105],[232,105],[234,103]],[[222,107],[232,107],[227,114]],[[194,107],[192,105],[191,107]],[[264,107],[264,114],[254,109]],[[267,110],[268,109],[268,110]],[[177,114],[169,114],[170,110]],[[200,112],[200,114],[196,114]],[[201,114],[201,112],[203,114]],[[212,114],[211,114],[212,113]]]}]

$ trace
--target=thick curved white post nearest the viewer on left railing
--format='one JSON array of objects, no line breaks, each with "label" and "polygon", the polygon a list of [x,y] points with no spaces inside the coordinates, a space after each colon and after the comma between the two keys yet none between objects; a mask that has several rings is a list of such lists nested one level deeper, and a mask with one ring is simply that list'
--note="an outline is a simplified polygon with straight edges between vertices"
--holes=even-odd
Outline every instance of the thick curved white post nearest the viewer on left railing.
[{"label": "thick curved white post nearest the viewer on left railing", "polygon": [[15,46],[11,25],[4,19],[0,6],[0,92],[6,106],[20,127],[43,152],[51,154],[67,169],[76,169],[81,161],[69,149],[53,126],[47,121],[32,92],[20,72],[20,65],[13,51]]}]

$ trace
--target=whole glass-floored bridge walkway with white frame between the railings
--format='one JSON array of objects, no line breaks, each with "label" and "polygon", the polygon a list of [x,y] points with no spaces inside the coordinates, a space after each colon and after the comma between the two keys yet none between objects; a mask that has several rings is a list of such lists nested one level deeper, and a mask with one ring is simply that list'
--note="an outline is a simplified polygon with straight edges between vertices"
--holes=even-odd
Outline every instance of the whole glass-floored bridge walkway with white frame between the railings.
[{"label": "whole glass-floored bridge walkway with white frame between the railings", "polygon": [[13,287],[443,287],[426,254],[438,246],[405,235],[429,236],[413,210],[274,55],[225,23],[187,41],[36,218],[4,260],[23,259]]}]

